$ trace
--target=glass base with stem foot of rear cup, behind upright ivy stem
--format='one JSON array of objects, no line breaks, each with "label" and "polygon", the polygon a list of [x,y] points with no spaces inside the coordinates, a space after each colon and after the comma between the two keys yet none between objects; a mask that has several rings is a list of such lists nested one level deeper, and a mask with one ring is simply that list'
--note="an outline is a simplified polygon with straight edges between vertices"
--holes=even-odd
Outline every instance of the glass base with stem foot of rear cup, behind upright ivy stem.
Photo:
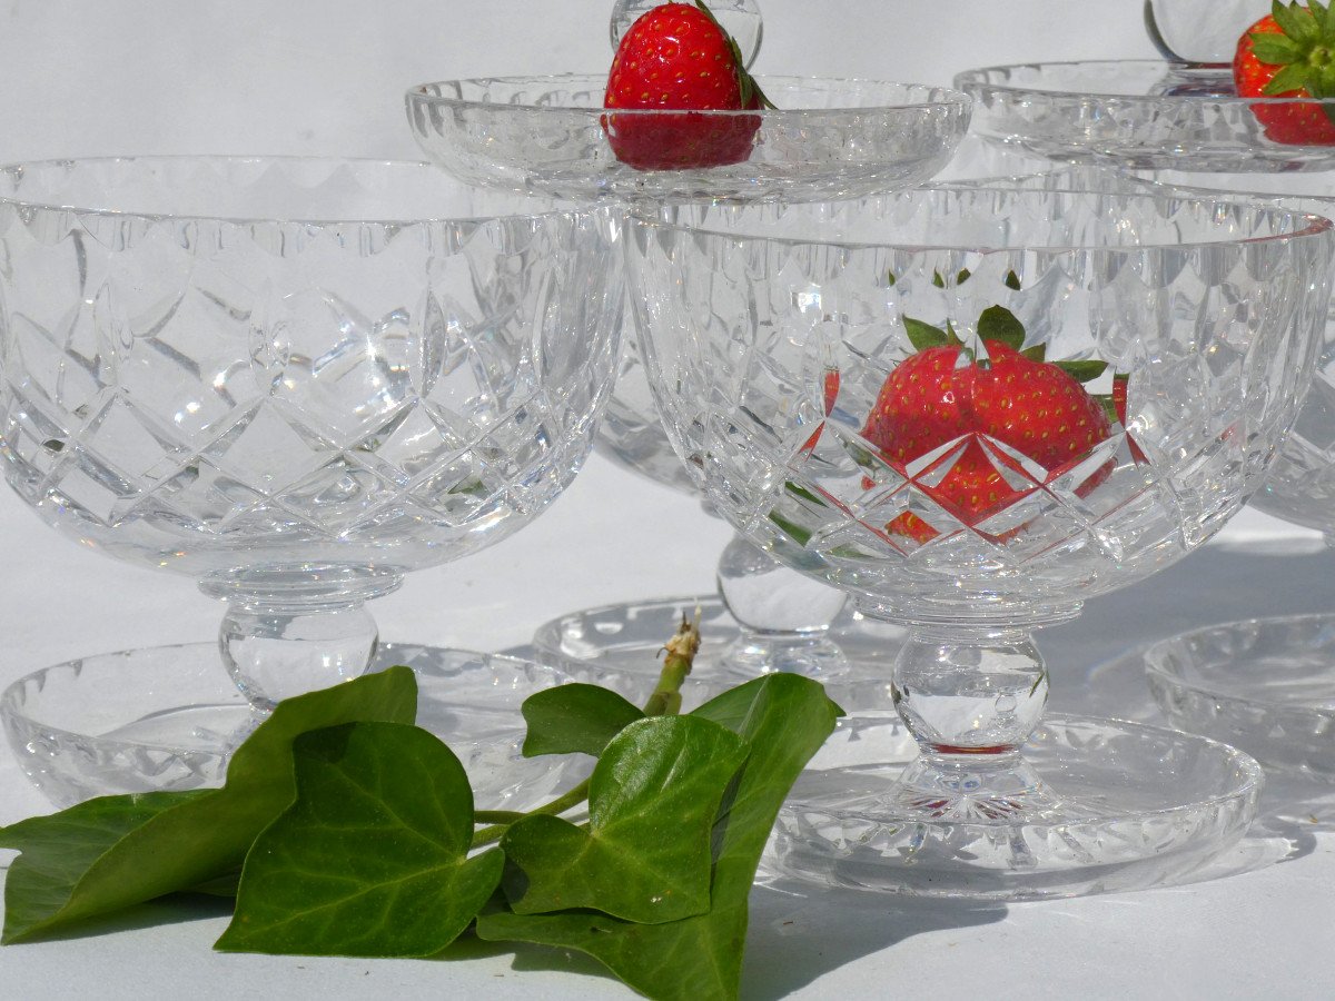
[{"label": "glass base with stem foot of rear cup, behind upright ivy stem", "polygon": [[890,706],[890,667],[904,642],[901,627],[864,618],[846,609],[822,637],[742,635],[718,595],[665,598],[606,605],[574,611],[538,627],[534,655],[542,663],[570,670],[597,667],[642,677],[653,690],[663,642],[682,615],[700,610],[700,653],[684,689],[688,707],[718,691],[778,670],[792,670],[826,683],[834,699]]}]

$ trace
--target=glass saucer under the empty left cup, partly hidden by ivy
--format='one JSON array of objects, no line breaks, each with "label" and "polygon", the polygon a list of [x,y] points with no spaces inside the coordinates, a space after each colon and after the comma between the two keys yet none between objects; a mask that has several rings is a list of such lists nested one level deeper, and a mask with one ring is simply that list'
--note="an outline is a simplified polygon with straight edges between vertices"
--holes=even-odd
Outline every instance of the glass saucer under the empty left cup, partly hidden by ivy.
[{"label": "glass saucer under the empty left cup, partly hidden by ivy", "polygon": [[[513,657],[384,643],[371,670],[418,677],[418,725],[446,741],[483,809],[523,810],[583,778],[587,762],[523,758],[519,705],[570,675]],[[0,694],[0,722],[24,774],[56,806],[93,795],[222,785],[256,725],[218,667],[218,646],[97,654],[44,667]]]}]

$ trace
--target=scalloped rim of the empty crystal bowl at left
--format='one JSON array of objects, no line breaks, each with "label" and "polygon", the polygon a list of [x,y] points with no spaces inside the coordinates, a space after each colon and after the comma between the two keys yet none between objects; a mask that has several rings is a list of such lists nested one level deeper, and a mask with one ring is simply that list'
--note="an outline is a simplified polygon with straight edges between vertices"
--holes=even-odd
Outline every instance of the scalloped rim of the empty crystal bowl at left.
[{"label": "scalloped rim of the empty crystal bowl at left", "polygon": [[[92,204],[96,199],[71,198],[67,194],[25,196],[20,194],[24,183],[35,179],[47,186],[45,190],[59,190],[61,176],[69,178],[73,172],[93,167],[103,172],[119,171],[124,168],[124,175],[116,175],[115,180],[124,183],[144,183],[146,176],[160,174],[162,183],[155,184],[151,198],[170,199],[179,196],[174,192],[172,182],[179,175],[191,170],[211,170],[219,180],[230,187],[251,187],[263,182],[271,174],[282,174],[282,180],[295,196],[311,198],[320,195],[320,188],[338,179],[340,172],[352,172],[359,178],[364,175],[383,175],[376,178],[380,191],[387,204],[402,204],[405,199],[414,204],[421,204],[423,211],[340,211],[307,214],[302,211],[284,212],[204,212],[204,211],[176,211],[158,210],[155,207],[134,207],[113,204]],[[36,175],[36,178],[35,178]],[[52,176],[44,176],[52,175]],[[232,178],[235,176],[235,180]],[[76,179],[80,184],[87,184],[83,178]],[[363,191],[370,186],[362,186]],[[198,187],[190,186],[184,195],[198,198]],[[107,199],[115,198],[115,190],[103,192]],[[124,198],[124,195],[120,195]],[[136,198],[131,195],[129,198]],[[138,198],[144,198],[138,195]],[[340,204],[346,200],[340,199]],[[506,191],[487,191],[471,186],[454,183],[449,179],[442,183],[439,170],[426,160],[384,160],[375,157],[342,157],[342,156],[267,156],[267,155],[150,155],[150,156],[87,156],[48,160],[24,160],[0,163],[0,206],[8,206],[21,212],[68,212],[77,216],[108,218],[108,219],[140,219],[148,223],[156,222],[198,222],[198,223],[227,223],[234,226],[303,226],[316,228],[334,228],[343,226],[367,227],[406,227],[417,224],[442,223],[469,223],[487,222],[499,218],[537,219],[550,215],[573,215],[575,212],[587,214],[587,208],[558,206],[547,199],[534,199]],[[446,206],[446,211],[442,211]],[[430,207],[430,211],[426,211]]]}]

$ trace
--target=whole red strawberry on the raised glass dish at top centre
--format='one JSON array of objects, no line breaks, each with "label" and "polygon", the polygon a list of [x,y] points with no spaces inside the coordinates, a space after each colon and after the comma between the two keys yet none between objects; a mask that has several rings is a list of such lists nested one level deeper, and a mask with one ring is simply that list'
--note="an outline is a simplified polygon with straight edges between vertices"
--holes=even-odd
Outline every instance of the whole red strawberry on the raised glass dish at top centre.
[{"label": "whole red strawberry on the raised glass dish at top centre", "polygon": [[[607,75],[606,108],[752,111],[773,107],[742,67],[737,43],[700,0],[642,15],[622,36]],[[606,115],[617,159],[641,171],[742,163],[757,115]]]}]

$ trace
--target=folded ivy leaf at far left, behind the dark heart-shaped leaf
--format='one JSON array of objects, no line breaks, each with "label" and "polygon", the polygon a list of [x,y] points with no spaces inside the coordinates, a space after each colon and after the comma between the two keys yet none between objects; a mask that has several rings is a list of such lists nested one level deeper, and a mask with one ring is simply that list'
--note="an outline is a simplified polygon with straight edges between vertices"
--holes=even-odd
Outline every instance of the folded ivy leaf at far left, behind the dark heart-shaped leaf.
[{"label": "folded ivy leaf at far left, behind the dark heart-shaped leaf", "polygon": [[417,678],[391,667],[286,699],[236,749],[222,789],[101,797],[0,829],[19,849],[5,880],[3,942],[17,942],[240,869],[296,786],[291,745],[343,722],[411,722]]}]

